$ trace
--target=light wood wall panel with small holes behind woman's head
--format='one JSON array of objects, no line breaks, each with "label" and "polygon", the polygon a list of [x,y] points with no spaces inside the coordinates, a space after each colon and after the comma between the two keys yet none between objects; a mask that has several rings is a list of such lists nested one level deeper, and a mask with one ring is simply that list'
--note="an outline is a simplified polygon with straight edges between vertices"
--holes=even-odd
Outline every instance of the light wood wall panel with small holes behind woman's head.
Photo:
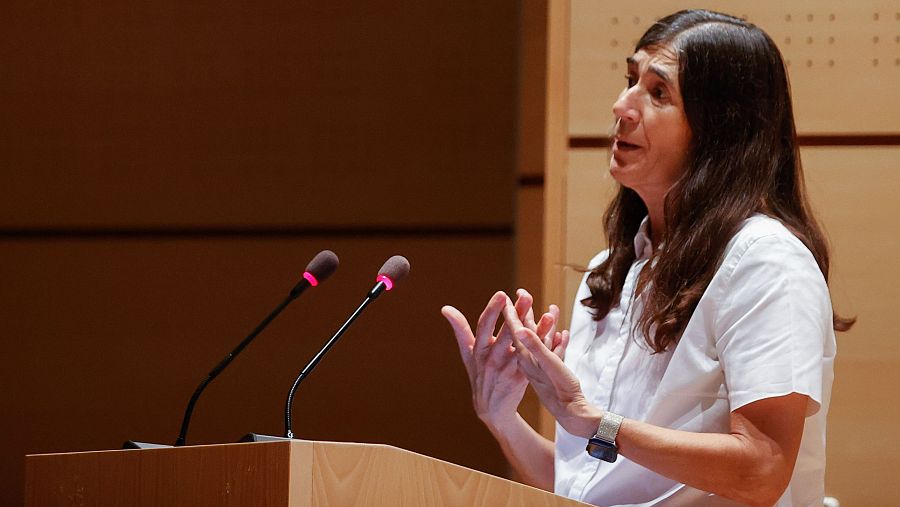
[{"label": "light wood wall panel with small holes behind woman's head", "polygon": [[[569,133],[606,136],[625,86],[625,58],[653,20],[684,5],[571,1]],[[745,17],[789,62],[801,134],[898,133],[900,7],[891,0],[705,0],[691,7]],[[827,85],[824,85],[827,83]]]}]

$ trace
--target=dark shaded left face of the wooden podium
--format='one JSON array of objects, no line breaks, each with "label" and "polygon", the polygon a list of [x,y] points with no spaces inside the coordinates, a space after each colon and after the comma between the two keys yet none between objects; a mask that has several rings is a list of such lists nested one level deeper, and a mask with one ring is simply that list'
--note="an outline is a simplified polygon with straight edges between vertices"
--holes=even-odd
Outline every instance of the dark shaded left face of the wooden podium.
[{"label": "dark shaded left face of the wooden podium", "polygon": [[31,455],[29,506],[283,506],[287,445],[227,444]]}]

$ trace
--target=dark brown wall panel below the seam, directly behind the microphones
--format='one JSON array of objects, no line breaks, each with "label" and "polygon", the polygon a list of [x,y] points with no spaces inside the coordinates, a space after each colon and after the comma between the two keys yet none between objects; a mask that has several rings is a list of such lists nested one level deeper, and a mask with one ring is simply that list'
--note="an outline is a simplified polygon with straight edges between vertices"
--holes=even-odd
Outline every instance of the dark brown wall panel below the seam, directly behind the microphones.
[{"label": "dark brown wall panel below the seam, directly behind the microphones", "polygon": [[282,434],[293,378],[362,301],[381,263],[403,253],[409,278],[375,301],[300,386],[294,432],[505,473],[439,310],[453,304],[477,316],[495,290],[511,290],[509,257],[485,255],[511,251],[511,238],[2,240],[0,504],[21,502],[26,453],[173,442],[200,380],[323,247],[341,256],[340,269],[207,389],[188,442]]}]

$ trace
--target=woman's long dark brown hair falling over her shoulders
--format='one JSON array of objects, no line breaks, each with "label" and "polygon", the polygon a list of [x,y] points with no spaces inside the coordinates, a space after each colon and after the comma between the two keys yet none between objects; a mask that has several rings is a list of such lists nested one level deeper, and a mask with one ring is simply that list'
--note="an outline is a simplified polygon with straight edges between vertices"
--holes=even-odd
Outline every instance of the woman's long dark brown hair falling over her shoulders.
[{"label": "woman's long dark brown hair falling over her shoulders", "polygon": [[[677,55],[693,140],[686,170],[665,197],[665,242],[636,286],[644,309],[635,326],[656,352],[678,341],[728,241],[756,213],[797,236],[826,280],[829,267],[804,189],[787,73],[772,39],[735,17],[685,10],[657,21],[635,52],[663,46]],[[588,275],[591,296],[582,301],[598,320],[619,302],[646,215],[638,194],[620,185],[605,214],[609,256]],[[833,318],[839,331],[853,322]]]}]

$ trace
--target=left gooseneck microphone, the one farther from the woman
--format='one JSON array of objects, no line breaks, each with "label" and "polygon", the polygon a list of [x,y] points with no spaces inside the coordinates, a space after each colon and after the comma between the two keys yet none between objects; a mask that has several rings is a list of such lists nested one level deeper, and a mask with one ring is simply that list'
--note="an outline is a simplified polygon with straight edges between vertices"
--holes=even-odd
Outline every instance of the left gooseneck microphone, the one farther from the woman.
[{"label": "left gooseneck microphone, the one farther from the woman", "polygon": [[220,373],[229,365],[231,361],[237,357],[247,345],[250,345],[250,342],[253,341],[256,336],[262,332],[266,326],[269,325],[275,317],[284,310],[287,305],[291,303],[291,301],[297,299],[297,297],[303,293],[308,287],[315,287],[319,285],[319,283],[325,281],[338,267],[338,258],[337,255],[334,254],[331,250],[322,250],[311,261],[306,265],[306,271],[303,272],[303,278],[297,282],[297,285],[291,289],[288,296],[282,301],[278,306],[272,310],[269,315],[256,326],[253,331],[244,338],[241,343],[238,344],[237,347],[234,348],[231,352],[225,356],[212,371],[200,382],[200,385],[197,386],[197,390],[194,391],[194,394],[191,396],[191,400],[188,402],[187,409],[184,411],[184,420],[181,422],[181,432],[178,433],[178,440],[175,441],[176,446],[184,445],[184,441],[187,438],[188,426],[191,424],[191,414],[194,412],[194,405],[197,403],[197,399],[200,398],[200,394],[206,389],[206,386],[209,385],[216,377],[219,376]]}]

